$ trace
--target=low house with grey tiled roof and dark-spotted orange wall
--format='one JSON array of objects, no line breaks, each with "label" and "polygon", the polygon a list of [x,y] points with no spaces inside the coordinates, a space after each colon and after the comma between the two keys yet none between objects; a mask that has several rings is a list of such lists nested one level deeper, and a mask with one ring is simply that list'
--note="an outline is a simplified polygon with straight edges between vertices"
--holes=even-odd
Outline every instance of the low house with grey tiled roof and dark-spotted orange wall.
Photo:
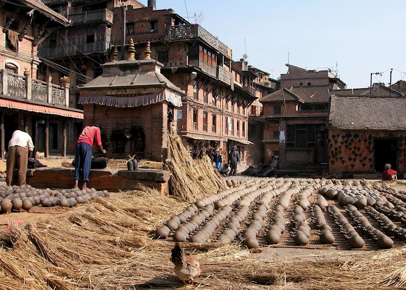
[{"label": "low house with grey tiled roof and dark-spotted orange wall", "polygon": [[404,108],[406,99],[402,97],[331,97],[329,173],[380,178],[384,165],[389,163],[403,175],[406,170]]}]

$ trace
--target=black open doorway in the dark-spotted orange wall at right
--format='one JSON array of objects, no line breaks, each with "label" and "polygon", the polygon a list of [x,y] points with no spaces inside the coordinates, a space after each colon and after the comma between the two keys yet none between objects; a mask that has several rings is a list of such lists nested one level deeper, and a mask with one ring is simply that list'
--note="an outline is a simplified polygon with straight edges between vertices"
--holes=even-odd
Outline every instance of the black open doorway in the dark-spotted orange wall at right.
[{"label": "black open doorway in the dark-spotted orange wall at right", "polygon": [[375,139],[374,140],[375,170],[383,172],[385,164],[389,163],[393,170],[397,170],[397,140]]}]

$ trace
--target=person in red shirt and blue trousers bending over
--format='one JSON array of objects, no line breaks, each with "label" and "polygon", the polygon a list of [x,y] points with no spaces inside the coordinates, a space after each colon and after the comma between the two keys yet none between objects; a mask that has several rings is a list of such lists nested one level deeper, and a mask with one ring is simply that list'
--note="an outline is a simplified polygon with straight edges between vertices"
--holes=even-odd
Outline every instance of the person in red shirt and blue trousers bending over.
[{"label": "person in red shirt and blue trousers bending over", "polygon": [[103,146],[101,145],[100,126],[98,124],[84,127],[82,133],[78,138],[78,141],[76,141],[75,187],[78,187],[80,170],[82,170],[83,190],[87,189],[87,182],[89,181],[90,166],[92,163],[92,147],[94,140],[96,140],[96,144],[100,148],[100,151],[106,154],[106,150],[103,149]]}]

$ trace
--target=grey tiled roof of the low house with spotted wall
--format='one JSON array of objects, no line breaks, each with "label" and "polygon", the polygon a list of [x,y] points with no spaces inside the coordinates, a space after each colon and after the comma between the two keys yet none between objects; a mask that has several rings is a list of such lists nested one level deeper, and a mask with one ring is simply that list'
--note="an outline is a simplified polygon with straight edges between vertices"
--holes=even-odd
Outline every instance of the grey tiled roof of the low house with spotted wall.
[{"label": "grey tiled roof of the low house with spotted wall", "polygon": [[406,130],[406,98],[332,96],[328,125],[343,130]]}]

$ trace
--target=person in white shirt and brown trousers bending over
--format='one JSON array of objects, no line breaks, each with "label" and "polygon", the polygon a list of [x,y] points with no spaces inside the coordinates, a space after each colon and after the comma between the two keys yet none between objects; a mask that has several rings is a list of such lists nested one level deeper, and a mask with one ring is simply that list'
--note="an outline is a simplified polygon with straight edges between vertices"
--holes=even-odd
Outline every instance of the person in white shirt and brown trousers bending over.
[{"label": "person in white shirt and brown trousers bending over", "polygon": [[18,166],[18,185],[25,185],[27,175],[28,157],[31,157],[34,145],[31,136],[20,130],[14,131],[9,142],[9,151],[7,154],[6,183],[11,185],[13,173],[16,165]]}]

